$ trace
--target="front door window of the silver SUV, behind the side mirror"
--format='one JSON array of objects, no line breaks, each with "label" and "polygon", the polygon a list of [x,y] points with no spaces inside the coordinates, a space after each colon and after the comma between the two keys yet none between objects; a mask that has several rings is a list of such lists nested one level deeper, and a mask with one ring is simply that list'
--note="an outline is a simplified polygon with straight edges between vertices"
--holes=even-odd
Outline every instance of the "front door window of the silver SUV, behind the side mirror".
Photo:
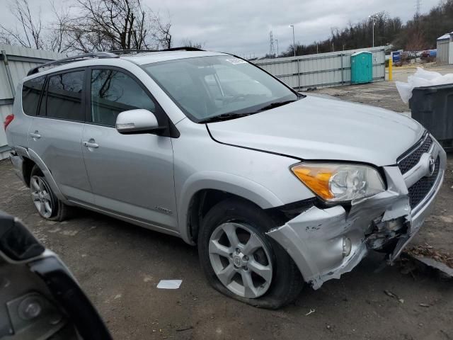
[{"label": "front door window of the silver SUV, behind the side mirror", "polygon": [[[118,113],[144,108],[156,113],[156,103],[137,81],[115,69],[91,72],[91,122],[115,126]],[[159,115],[157,115],[159,120]]]}]

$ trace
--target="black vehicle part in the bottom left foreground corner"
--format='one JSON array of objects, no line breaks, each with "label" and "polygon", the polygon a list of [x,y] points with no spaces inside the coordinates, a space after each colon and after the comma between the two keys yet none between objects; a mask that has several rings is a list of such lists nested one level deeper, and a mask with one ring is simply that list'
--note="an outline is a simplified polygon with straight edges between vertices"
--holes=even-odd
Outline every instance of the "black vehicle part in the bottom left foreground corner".
[{"label": "black vehicle part in the bottom left foreground corner", "polygon": [[111,340],[64,263],[0,211],[0,340]]}]

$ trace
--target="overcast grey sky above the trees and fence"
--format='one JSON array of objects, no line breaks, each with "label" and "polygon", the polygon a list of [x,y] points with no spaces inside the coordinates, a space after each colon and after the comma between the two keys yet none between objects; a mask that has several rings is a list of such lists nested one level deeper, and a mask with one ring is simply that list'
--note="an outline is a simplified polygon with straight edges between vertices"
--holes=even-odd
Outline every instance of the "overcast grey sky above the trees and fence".
[{"label": "overcast grey sky above the trees and fence", "polygon": [[[16,22],[4,6],[8,1],[11,0],[0,0],[0,22],[14,26]],[[43,21],[52,19],[49,0],[29,3],[33,13],[41,13]],[[413,17],[416,6],[416,0],[142,0],[142,3],[170,19],[176,45],[190,39],[201,42],[206,50],[243,57],[265,55],[269,51],[270,30],[281,52],[292,44],[289,25],[294,25],[296,42],[309,44],[328,38],[331,28],[358,23],[379,11],[387,11],[406,22]],[[420,13],[428,12],[438,3],[439,0],[420,0]],[[62,4],[69,5],[71,0]]]}]

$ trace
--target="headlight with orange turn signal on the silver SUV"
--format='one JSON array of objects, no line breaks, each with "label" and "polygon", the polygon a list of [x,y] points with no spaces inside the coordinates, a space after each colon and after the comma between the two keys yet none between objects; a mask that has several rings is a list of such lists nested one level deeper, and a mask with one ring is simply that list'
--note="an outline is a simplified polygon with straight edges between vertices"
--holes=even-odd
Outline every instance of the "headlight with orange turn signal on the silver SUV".
[{"label": "headlight with orange turn signal on the silver SUV", "polygon": [[385,190],[382,177],[371,166],[304,162],[291,170],[311,191],[329,202],[364,198]]}]

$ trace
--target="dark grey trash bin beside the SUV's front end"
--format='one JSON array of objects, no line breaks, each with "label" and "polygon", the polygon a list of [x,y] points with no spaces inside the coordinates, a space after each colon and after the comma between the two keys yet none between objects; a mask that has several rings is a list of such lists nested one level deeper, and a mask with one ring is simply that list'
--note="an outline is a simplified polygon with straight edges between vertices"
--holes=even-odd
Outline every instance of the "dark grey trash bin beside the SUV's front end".
[{"label": "dark grey trash bin beside the SUV's front end", "polygon": [[409,100],[412,118],[448,151],[453,150],[453,84],[415,87]]}]

